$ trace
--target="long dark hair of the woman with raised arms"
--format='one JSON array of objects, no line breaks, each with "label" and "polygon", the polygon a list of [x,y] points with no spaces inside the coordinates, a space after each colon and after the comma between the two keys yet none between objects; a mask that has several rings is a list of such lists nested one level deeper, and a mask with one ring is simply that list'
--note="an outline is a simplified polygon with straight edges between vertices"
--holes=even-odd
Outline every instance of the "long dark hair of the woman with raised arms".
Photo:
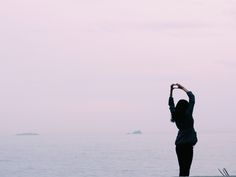
[{"label": "long dark hair of the woman with raised arms", "polygon": [[171,121],[181,121],[185,117],[185,112],[189,106],[189,102],[187,100],[179,100],[176,107],[175,112],[172,115]]}]

